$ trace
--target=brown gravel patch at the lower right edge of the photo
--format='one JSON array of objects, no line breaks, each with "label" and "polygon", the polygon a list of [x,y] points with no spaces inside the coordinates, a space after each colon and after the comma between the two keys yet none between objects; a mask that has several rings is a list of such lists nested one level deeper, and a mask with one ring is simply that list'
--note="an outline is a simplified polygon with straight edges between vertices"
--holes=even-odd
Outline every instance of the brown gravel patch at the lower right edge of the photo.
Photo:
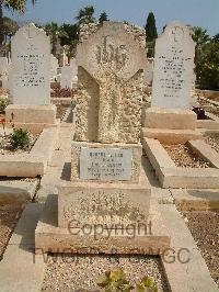
[{"label": "brown gravel patch at the lower right edge of the photo", "polygon": [[210,274],[219,287],[219,211],[183,212]]}]

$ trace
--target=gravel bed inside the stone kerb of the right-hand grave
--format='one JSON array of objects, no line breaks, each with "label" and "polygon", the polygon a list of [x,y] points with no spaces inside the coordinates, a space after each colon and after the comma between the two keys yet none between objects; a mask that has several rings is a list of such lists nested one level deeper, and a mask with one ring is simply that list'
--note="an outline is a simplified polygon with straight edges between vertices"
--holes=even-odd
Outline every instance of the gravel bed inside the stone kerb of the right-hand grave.
[{"label": "gravel bed inside the stone kerb of the right-hand grave", "polygon": [[208,168],[210,164],[184,144],[163,145],[177,167]]}]

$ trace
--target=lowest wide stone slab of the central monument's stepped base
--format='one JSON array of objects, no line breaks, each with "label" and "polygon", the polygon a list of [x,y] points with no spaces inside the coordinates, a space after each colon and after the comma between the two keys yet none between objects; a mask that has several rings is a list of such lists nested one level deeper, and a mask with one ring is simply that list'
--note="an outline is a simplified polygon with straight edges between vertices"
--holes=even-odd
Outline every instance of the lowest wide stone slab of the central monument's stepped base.
[{"label": "lowest wide stone slab of the central monument's stepped base", "polygon": [[151,213],[145,225],[136,223],[123,229],[103,229],[102,225],[61,228],[57,227],[57,196],[48,196],[35,231],[36,254],[160,255],[170,247],[160,212]]}]

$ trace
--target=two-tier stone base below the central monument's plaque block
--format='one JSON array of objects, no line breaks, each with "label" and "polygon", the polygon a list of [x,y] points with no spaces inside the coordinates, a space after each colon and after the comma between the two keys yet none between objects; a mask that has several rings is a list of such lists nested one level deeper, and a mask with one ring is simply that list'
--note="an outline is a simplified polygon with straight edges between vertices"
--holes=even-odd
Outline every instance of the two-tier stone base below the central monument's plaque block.
[{"label": "two-tier stone base below the central monument's plaque block", "polygon": [[146,176],[137,184],[69,182],[45,203],[36,252],[159,255],[170,236],[150,198]]}]

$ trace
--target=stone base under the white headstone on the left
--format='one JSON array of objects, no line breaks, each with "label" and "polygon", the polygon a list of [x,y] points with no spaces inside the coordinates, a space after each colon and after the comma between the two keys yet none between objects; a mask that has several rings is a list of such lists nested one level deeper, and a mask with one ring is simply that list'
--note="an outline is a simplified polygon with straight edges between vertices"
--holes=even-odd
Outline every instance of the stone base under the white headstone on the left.
[{"label": "stone base under the white headstone on the left", "polygon": [[38,134],[44,128],[57,126],[56,105],[23,105],[10,104],[5,109],[8,126],[26,128]]}]

